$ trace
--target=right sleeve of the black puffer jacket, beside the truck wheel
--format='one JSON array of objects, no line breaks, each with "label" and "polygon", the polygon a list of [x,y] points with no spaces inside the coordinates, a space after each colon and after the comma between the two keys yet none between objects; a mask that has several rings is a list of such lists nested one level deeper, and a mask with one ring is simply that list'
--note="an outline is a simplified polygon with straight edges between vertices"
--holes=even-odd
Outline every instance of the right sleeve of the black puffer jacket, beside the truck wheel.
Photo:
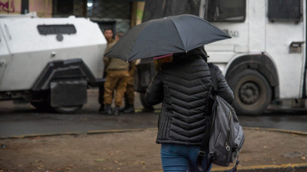
[{"label": "right sleeve of the black puffer jacket, beside the truck wheel", "polygon": [[234,100],[233,92],[228,86],[227,81],[225,80],[225,77],[220,68],[216,65],[214,65],[214,67],[217,75],[218,95],[222,97],[224,100],[226,100],[227,103],[232,104]]}]

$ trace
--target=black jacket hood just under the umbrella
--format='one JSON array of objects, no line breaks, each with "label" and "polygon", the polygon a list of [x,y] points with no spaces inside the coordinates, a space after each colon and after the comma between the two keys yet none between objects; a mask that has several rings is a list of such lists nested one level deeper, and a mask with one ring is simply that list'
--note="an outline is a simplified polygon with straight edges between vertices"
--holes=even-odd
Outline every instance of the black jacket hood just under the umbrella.
[{"label": "black jacket hood just under the umbrella", "polygon": [[188,52],[174,53],[173,62],[191,60],[191,59],[203,59],[207,62],[207,52],[205,51],[204,46],[200,46],[189,50]]}]

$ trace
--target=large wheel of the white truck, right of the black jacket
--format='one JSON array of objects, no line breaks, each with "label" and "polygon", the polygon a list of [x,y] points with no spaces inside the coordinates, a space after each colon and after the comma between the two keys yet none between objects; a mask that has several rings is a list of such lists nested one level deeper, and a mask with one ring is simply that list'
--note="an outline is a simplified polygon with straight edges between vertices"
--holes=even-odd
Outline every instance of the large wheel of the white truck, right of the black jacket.
[{"label": "large wheel of the white truck, right of the black jacket", "polygon": [[234,92],[233,107],[240,115],[261,115],[272,99],[270,84],[256,70],[246,69],[228,79]]}]

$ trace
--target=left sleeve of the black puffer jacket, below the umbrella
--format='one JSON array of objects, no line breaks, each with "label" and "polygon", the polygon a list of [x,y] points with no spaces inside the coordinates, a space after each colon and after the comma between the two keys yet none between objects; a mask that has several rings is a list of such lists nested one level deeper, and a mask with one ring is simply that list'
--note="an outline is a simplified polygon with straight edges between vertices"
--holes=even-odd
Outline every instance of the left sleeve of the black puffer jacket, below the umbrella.
[{"label": "left sleeve of the black puffer jacket, below the umbrella", "polygon": [[156,105],[163,101],[162,71],[158,70],[146,89],[145,101],[148,105]]}]

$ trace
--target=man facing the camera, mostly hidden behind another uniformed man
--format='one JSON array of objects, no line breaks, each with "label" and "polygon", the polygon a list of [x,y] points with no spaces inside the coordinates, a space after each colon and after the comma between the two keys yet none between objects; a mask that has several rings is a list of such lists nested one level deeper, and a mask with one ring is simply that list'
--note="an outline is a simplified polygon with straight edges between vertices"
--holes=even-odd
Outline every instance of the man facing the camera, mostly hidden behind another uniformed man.
[{"label": "man facing the camera, mostly hidden behind another uniformed man", "polygon": [[[106,54],[106,52],[116,43],[116,40],[113,39],[114,34],[113,34],[113,30],[111,28],[106,28],[103,31],[103,35],[107,39],[107,48],[104,52],[104,54]],[[107,76],[107,73],[106,73],[106,64],[105,64],[104,71],[103,71],[103,78],[105,78],[106,76]],[[104,86],[102,84],[99,87],[99,104],[100,104],[99,112],[104,111],[103,94],[104,94]]]}]

